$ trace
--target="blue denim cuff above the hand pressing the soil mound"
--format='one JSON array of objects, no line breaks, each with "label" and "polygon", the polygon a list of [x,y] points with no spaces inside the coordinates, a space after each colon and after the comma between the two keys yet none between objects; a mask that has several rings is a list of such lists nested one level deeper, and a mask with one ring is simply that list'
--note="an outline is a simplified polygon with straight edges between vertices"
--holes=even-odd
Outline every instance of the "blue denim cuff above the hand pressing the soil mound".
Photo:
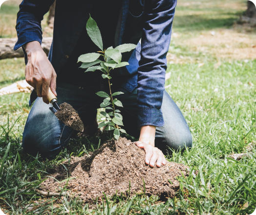
[{"label": "blue denim cuff above the hand pressing the soil mound", "polygon": [[154,125],[157,127],[163,126],[163,114],[158,109],[139,109],[138,110],[138,125]]}]

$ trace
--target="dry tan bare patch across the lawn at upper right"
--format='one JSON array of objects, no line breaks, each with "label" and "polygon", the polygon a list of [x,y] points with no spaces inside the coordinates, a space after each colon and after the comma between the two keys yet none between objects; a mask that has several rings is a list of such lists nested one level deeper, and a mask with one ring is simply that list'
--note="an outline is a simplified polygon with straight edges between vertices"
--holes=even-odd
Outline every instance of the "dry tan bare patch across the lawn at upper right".
[{"label": "dry tan bare patch across the lawn at upper right", "polygon": [[184,38],[180,33],[174,33],[175,44],[186,47],[190,55],[187,53],[184,53],[185,55],[178,53],[177,55],[171,51],[167,54],[167,61],[169,63],[194,63],[201,62],[201,58],[205,56],[212,56],[220,60],[256,59],[256,35],[243,31],[243,28],[239,29],[240,27],[202,31],[199,35],[190,38]]}]

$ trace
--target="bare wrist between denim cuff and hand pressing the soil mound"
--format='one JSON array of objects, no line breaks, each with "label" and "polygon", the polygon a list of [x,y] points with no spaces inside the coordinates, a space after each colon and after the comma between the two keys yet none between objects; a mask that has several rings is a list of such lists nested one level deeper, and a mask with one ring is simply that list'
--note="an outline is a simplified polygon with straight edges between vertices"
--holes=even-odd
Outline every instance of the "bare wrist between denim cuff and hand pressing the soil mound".
[{"label": "bare wrist between denim cuff and hand pressing the soil mound", "polygon": [[143,125],[140,127],[139,140],[141,142],[155,146],[156,126]]}]

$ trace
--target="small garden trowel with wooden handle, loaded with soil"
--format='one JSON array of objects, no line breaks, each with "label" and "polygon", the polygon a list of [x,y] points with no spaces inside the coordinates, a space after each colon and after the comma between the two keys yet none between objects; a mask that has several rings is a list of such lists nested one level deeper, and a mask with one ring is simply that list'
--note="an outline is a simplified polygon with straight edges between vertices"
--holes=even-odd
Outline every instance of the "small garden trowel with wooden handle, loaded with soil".
[{"label": "small garden trowel with wooden handle, loaded with soil", "polygon": [[57,98],[50,88],[48,92],[48,101],[53,105],[53,107],[50,107],[50,110],[64,123],[64,125],[67,125],[76,131],[83,132],[84,125],[78,112],[66,102],[58,105]]}]

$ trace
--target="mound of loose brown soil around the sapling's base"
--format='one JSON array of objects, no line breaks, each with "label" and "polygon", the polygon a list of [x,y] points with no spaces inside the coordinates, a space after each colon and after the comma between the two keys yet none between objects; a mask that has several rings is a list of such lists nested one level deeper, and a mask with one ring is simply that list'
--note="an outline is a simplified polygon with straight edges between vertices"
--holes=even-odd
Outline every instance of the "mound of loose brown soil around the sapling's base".
[{"label": "mound of loose brown soil around the sapling's base", "polygon": [[[89,203],[97,197],[101,200],[103,192],[110,196],[145,193],[158,195],[160,199],[173,197],[179,188],[177,176],[182,173],[187,176],[188,167],[168,162],[160,168],[151,168],[144,159],[144,150],[130,140],[111,140],[91,156],[71,157],[69,162],[50,170],[50,177],[41,184],[40,190],[61,193],[60,187],[67,184],[70,195]],[[68,182],[64,180],[67,175],[70,176]]]}]

